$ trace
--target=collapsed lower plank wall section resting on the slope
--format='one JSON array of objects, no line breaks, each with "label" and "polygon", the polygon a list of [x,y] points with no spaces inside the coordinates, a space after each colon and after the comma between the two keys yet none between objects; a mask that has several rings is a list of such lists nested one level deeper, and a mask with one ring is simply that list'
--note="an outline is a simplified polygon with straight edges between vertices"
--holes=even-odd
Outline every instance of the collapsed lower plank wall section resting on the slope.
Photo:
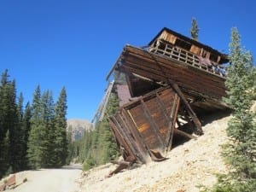
[{"label": "collapsed lower plank wall section resting on the slope", "polygon": [[[172,148],[172,138],[193,138],[178,129],[180,97],[170,86],[154,90],[119,109],[109,118],[109,125],[125,162],[142,163],[165,160]],[[129,164],[122,164],[127,167]]]}]

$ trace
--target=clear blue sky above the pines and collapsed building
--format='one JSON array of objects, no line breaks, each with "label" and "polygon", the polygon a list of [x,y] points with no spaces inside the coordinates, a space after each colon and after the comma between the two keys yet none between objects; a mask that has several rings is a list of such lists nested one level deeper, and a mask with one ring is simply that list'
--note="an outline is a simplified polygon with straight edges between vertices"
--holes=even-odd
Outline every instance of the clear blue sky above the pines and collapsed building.
[{"label": "clear blue sky above the pines and collapsed building", "polygon": [[55,101],[65,86],[67,119],[91,120],[125,44],[146,45],[164,26],[189,36],[192,17],[201,43],[228,53],[236,26],[255,58],[253,0],[1,0],[0,73],[9,69],[25,102],[38,84]]}]

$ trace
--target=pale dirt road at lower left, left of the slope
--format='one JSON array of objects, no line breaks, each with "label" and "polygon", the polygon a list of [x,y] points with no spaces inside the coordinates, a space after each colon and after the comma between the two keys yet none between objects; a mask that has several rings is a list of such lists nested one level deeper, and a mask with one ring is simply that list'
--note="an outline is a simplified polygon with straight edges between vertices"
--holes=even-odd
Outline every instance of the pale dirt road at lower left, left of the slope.
[{"label": "pale dirt road at lower left, left of the slope", "polygon": [[42,169],[38,171],[20,172],[16,175],[18,179],[27,178],[12,192],[75,192],[79,190],[79,179],[82,170],[79,166],[65,166],[61,169]]}]

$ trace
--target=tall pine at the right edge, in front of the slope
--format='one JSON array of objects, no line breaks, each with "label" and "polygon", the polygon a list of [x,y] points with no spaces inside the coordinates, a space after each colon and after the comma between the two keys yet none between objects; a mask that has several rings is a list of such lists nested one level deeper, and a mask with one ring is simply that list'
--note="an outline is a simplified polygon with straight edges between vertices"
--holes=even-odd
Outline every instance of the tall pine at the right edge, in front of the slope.
[{"label": "tall pine at the right edge, in front of the slope", "polygon": [[223,152],[230,172],[219,176],[212,191],[251,192],[256,189],[256,117],[250,111],[255,96],[255,68],[252,55],[241,49],[236,28],[231,32],[230,62],[225,83],[228,98],[224,101],[234,111],[227,128],[230,143],[224,145]]}]

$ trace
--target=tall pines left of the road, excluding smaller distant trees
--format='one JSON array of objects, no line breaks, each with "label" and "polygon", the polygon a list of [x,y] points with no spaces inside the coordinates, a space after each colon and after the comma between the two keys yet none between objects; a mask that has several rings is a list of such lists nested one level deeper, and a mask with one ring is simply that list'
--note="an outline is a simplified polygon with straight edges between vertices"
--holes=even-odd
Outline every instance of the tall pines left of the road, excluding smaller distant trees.
[{"label": "tall pines left of the road, excluding smaller distant trees", "polygon": [[8,70],[0,84],[0,178],[9,173],[67,164],[67,93],[57,102],[51,90],[36,88],[32,103],[23,106]]}]

